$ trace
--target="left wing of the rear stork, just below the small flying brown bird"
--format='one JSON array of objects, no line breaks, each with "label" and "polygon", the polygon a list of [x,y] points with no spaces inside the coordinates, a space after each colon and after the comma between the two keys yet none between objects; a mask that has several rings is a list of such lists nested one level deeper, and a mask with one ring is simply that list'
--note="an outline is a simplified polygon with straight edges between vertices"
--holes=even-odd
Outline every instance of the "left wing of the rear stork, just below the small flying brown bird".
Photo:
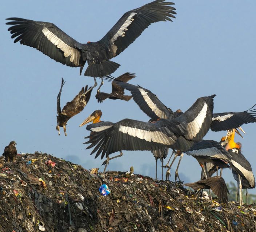
[{"label": "left wing of the rear stork, just below the small flying brown bird", "polygon": [[124,82],[118,82],[117,84],[131,92],[133,100],[151,119],[168,119],[173,115],[172,110],[167,108],[151,91]]}]

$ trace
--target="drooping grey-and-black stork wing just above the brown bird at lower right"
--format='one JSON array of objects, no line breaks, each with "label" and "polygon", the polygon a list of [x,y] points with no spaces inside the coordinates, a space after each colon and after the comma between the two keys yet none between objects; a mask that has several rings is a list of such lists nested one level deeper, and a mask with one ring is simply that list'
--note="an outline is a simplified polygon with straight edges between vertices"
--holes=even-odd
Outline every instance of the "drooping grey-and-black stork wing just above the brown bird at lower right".
[{"label": "drooping grey-and-black stork wing just above the brown bird at lower right", "polygon": [[216,159],[223,159],[229,161],[231,155],[221,146],[221,144],[214,140],[201,140],[196,142],[189,150],[185,151],[189,156],[211,157]]}]

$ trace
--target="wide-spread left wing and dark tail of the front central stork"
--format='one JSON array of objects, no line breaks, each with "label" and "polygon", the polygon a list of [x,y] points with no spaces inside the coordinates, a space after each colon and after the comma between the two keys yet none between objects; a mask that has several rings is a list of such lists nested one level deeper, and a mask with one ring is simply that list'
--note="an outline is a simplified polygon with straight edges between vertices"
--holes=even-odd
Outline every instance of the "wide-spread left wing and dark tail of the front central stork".
[{"label": "wide-spread left wing and dark tail of the front central stork", "polygon": [[155,123],[124,119],[85,137],[89,138],[85,144],[91,143],[87,149],[95,146],[91,152],[93,154],[97,151],[95,158],[100,153],[103,158],[121,150],[157,150],[165,147],[184,150],[193,145],[192,141],[173,133],[172,130],[175,130],[173,125],[164,119]]}]

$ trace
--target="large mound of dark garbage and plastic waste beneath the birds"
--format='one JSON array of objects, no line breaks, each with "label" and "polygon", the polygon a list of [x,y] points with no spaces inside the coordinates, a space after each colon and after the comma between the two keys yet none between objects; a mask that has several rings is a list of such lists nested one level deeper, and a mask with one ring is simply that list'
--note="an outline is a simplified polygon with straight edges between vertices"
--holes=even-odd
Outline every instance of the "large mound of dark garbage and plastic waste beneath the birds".
[{"label": "large mound of dark garbage and plastic waste beneath the birds", "polygon": [[256,231],[256,204],[220,206],[215,199],[209,210],[207,196],[200,204],[181,182],[102,175],[39,152],[5,163],[0,181],[0,231]]}]

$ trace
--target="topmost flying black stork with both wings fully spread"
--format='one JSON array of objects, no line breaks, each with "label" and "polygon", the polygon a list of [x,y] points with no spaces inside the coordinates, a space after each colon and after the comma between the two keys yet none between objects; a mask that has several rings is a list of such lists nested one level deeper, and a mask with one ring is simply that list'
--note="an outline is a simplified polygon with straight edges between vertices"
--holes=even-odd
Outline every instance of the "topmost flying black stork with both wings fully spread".
[{"label": "topmost flying black stork with both wings fully spread", "polygon": [[[8,30],[15,38],[41,51],[45,55],[70,67],[80,67],[80,75],[88,62],[85,76],[103,77],[112,74],[120,65],[109,61],[119,55],[152,23],[172,21],[176,14],[174,3],[156,0],[142,7],[126,12],[109,32],[97,42],[79,43],[56,25],[49,22],[33,21],[24,18],[7,18],[12,20]],[[93,86],[93,87],[95,87]]]}]

